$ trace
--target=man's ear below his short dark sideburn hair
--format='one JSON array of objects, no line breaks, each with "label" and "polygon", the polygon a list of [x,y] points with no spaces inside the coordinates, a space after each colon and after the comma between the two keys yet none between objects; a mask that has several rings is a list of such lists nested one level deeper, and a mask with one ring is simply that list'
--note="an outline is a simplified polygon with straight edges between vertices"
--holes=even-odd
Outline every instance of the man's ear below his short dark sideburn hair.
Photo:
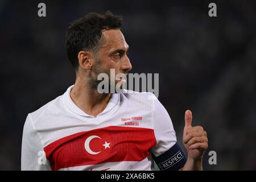
[{"label": "man's ear below his short dark sideburn hair", "polygon": [[93,56],[90,52],[80,51],[78,53],[79,65],[84,69],[92,69],[93,66]]}]

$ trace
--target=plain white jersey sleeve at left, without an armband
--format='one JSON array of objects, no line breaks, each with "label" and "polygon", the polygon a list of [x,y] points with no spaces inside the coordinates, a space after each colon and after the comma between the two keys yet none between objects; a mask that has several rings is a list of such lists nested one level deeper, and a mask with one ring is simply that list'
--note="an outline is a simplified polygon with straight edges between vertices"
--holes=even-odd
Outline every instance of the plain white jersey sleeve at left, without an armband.
[{"label": "plain white jersey sleeve at left, without an armband", "polygon": [[34,130],[31,116],[28,114],[23,127],[21,170],[51,170],[45,156],[42,141],[38,133]]}]

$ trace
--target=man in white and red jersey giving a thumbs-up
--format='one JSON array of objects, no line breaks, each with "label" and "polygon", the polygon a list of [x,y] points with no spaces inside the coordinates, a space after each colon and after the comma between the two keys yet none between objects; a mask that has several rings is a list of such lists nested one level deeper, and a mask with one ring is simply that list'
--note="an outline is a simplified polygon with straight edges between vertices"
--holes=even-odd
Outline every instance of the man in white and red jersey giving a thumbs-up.
[{"label": "man in white and red jersey giving a thumbs-up", "polygon": [[100,73],[110,76],[114,69],[127,75],[131,70],[121,27],[122,17],[109,11],[90,13],[68,27],[65,47],[76,82],[28,114],[22,170],[151,170],[154,160],[162,170],[203,169],[207,133],[191,126],[191,111],[185,112],[186,157],[170,116],[154,94],[98,92]]}]

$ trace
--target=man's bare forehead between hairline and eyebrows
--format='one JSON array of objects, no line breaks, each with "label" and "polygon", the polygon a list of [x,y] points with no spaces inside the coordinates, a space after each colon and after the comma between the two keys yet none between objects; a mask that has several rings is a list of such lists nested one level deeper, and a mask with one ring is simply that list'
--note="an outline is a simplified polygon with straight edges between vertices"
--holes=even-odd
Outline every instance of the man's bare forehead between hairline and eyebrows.
[{"label": "man's bare forehead between hairline and eyebrows", "polygon": [[125,37],[123,36],[120,30],[105,30],[102,32],[105,43],[102,46],[105,49],[128,49],[128,44],[125,41]]}]

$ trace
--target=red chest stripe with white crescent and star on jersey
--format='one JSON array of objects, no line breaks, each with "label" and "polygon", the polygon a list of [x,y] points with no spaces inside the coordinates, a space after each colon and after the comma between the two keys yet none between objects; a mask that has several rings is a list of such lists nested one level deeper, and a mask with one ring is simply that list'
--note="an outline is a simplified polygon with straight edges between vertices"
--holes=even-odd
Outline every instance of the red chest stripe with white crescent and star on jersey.
[{"label": "red chest stripe with white crescent and star on jersey", "polygon": [[141,161],[155,146],[154,130],[109,126],[69,135],[44,147],[53,170],[107,162]]}]

